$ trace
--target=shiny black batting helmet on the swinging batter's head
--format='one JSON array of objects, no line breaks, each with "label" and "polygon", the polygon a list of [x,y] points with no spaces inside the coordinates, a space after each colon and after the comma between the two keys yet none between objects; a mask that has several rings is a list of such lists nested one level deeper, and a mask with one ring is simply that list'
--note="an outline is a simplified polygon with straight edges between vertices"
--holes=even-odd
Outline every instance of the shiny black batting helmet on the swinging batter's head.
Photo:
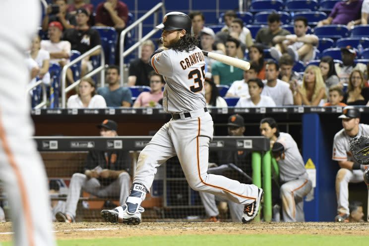
[{"label": "shiny black batting helmet on the swinging batter's head", "polygon": [[163,18],[163,23],[156,26],[162,30],[186,30],[187,33],[191,33],[191,19],[182,12],[169,12]]}]

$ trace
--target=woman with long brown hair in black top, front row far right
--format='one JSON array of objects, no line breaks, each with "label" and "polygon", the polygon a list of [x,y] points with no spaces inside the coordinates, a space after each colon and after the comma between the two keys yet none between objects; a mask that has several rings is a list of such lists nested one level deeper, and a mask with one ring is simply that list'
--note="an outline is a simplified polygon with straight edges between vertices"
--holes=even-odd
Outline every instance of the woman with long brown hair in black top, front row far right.
[{"label": "woman with long brown hair in black top, front row far right", "polygon": [[364,87],[364,75],[360,70],[353,70],[349,77],[348,91],[343,97],[347,105],[367,105],[369,101],[369,88]]}]

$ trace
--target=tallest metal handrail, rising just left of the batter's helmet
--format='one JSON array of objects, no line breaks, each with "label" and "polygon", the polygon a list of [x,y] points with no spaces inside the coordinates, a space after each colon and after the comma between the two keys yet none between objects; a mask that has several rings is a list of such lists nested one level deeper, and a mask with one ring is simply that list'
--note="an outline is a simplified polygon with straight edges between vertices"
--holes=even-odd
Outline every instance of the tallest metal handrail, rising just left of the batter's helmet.
[{"label": "tallest metal handrail, rising just left of the batter's helmet", "polygon": [[[156,11],[161,8],[163,15],[165,14],[165,6],[163,4],[163,2],[159,2],[158,4],[156,4],[152,9],[150,9],[147,13],[145,13],[144,15],[142,15],[139,19],[137,19],[135,22],[133,22],[131,25],[127,26],[127,28],[125,28],[122,32],[121,32],[121,36],[120,36],[120,44],[119,44],[119,56],[120,56],[120,74],[121,74],[121,86],[123,86],[123,77],[124,77],[124,69],[123,69],[123,59],[125,56],[127,56],[129,53],[131,53],[134,49],[136,49],[137,47],[139,47],[138,50],[138,57],[140,57],[140,45],[142,44],[142,42],[146,41],[148,38],[150,38],[152,35],[154,35],[158,29],[154,29],[151,32],[149,32],[147,35],[145,35],[145,37],[142,38],[142,21],[144,21],[145,19],[147,19],[151,14],[155,14],[154,15],[154,26],[156,26],[156,22],[157,22],[157,16],[156,16]],[[126,50],[126,52],[124,52],[124,37],[125,34],[127,32],[129,32],[131,29],[133,29],[135,26],[138,25],[138,42],[135,43],[132,47],[130,47],[128,50]],[[149,35],[150,34],[150,35]],[[133,48],[133,49],[132,49]],[[128,52],[129,51],[129,52]]]}]

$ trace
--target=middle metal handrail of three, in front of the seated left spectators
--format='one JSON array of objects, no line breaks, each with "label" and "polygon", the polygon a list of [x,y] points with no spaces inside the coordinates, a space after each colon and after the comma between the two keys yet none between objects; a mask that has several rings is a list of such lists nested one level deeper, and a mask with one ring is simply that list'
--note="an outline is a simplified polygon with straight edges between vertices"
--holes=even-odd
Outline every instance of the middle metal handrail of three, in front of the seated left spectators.
[{"label": "middle metal handrail of three, in front of the seated left spectators", "polygon": [[73,84],[69,85],[67,88],[65,88],[66,86],[66,70],[71,67],[72,65],[74,65],[75,63],[81,61],[83,58],[89,56],[90,54],[94,53],[95,51],[100,50],[100,66],[95,68],[94,70],[92,70],[91,72],[87,73],[86,75],[84,75],[84,77],[90,77],[92,75],[95,75],[96,73],[100,72],[100,82],[101,82],[101,86],[104,86],[104,78],[105,78],[105,55],[104,55],[104,49],[101,45],[97,45],[94,48],[92,48],[91,50],[87,51],[86,53],[80,55],[78,58],[74,59],[73,61],[67,63],[66,65],[63,66],[62,69],[62,108],[65,108],[65,104],[66,104],[66,93],[68,93],[69,91],[71,91],[74,87],[76,87],[79,82],[81,82],[81,79],[78,79],[77,81],[75,81]]}]

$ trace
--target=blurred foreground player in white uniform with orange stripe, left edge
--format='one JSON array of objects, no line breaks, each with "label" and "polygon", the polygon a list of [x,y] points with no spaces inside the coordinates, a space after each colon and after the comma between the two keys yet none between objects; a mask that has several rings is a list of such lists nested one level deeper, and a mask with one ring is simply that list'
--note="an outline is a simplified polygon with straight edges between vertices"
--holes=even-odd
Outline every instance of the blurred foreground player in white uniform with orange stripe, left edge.
[{"label": "blurred foreground player in white uniform with orange stripe, left edge", "polygon": [[0,180],[11,208],[15,246],[55,245],[46,172],[31,139],[34,129],[26,94],[26,50],[40,16],[38,0],[1,1]]}]

